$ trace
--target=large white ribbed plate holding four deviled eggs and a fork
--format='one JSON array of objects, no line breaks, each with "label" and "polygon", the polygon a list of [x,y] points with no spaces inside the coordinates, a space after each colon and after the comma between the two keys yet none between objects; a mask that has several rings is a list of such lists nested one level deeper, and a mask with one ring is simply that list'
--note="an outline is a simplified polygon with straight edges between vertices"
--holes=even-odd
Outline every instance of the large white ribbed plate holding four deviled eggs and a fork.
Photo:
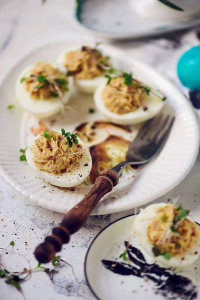
[{"label": "large white ribbed plate holding four deviled eggs and a fork", "polygon": [[[85,44],[79,41],[78,45]],[[77,45],[77,44],[76,44]],[[29,128],[35,119],[17,106],[12,110],[6,107],[14,100],[14,83],[17,74],[28,64],[39,60],[54,61],[59,52],[73,42],[46,45],[29,53],[8,73],[0,87],[0,171],[6,180],[31,203],[48,209],[66,212],[88,192],[89,188],[79,185],[74,190],[57,188],[39,178],[25,162],[19,161],[19,149],[30,144]],[[123,61],[123,52],[115,47],[104,45],[104,51],[116,62]],[[127,59],[127,58],[126,58]],[[123,61],[123,65],[124,65]],[[171,134],[156,159],[140,171],[130,171],[120,178],[119,184],[94,208],[93,214],[105,214],[133,208],[165,194],[176,186],[191,169],[199,146],[198,124],[190,102],[166,78],[153,68],[131,57],[127,59],[129,69],[150,86],[159,88],[167,95],[164,110],[175,114]],[[94,119],[104,119],[99,113],[88,114],[93,107],[92,97],[79,95],[69,101],[77,112],[68,111],[64,119],[59,119],[53,129],[61,127],[72,130],[75,125]],[[135,175],[134,179],[132,176]],[[45,187],[44,187],[45,186]]]}]

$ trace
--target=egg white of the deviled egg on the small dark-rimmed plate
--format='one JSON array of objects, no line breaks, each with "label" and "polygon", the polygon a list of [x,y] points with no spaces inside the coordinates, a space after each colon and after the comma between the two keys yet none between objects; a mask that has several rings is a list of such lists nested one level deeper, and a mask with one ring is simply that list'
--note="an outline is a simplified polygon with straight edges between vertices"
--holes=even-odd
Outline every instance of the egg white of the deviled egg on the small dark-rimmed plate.
[{"label": "egg white of the deviled egg on the small dark-rimmed plate", "polygon": [[[200,239],[198,239],[194,247],[187,250],[184,255],[171,257],[169,260],[165,259],[162,255],[156,257],[154,256],[152,252],[153,245],[148,240],[147,228],[153,217],[156,215],[155,209],[163,206],[166,206],[166,203],[151,204],[142,209],[140,213],[136,215],[134,227],[137,238],[139,239],[139,242],[144,250],[146,250],[155,260],[157,260],[161,264],[164,264],[168,267],[184,267],[192,264],[199,257]],[[187,218],[192,220],[190,217]],[[197,252],[197,254],[194,254],[194,252]],[[184,259],[182,259],[182,257],[184,257]]]}]

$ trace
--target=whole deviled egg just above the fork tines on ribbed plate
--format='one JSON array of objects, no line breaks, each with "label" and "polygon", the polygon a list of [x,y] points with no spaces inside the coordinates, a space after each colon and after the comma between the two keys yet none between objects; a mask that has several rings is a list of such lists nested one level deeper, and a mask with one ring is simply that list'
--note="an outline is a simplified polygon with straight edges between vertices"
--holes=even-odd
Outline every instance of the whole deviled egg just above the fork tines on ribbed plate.
[{"label": "whole deviled egg just above the fork tines on ribbed plate", "polygon": [[108,76],[94,92],[97,109],[117,124],[136,124],[154,117],[166,97],[132,78],[132,73]]}]

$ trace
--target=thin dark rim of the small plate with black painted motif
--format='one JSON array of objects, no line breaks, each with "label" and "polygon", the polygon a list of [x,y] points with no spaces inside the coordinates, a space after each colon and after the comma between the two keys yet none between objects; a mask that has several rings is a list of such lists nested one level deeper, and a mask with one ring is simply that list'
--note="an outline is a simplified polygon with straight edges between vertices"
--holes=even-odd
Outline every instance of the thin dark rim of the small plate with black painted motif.
[{"label": "thin dark rim of the small plate with black painted motif", "polygon": [[[137,214],[138,214],[138,213],[137,213]],[[94,243],[94,241],[98,238],[98,236],[99,236],[104,230],[106,230],[109,226],[112,226],[114,223],[116,223],[116,222],[118,222],[118,221],[120,221],[120,220],[122,220],[122,219],[124,219],[124,218],[131,217],[131,216],[133,216],[133,215],[135,215],[135,213],[132,213],[132,214],[129,214],[129,215],[125,215],[125,216],[122,216],[122,217],[120,217],[119,219],[117,219],[117,220],[111,222],[110,224],[108,224],[107,226],[105,226],[105,227],[104,227],[103,229],[101,229],[100,232],[98,232],[98,234],[92,239],[92,241],[91,241],[91,243],[90,243],[90,245],[89,245],[89,247],[88,247],[88,249],[87,249],[87,252],[86,252],[85,258],[84,258],[84,276],[85,276],[85,280],[86,280],[86,283],[87,283],[87,285],[88,285],[90,291],[92,292],[92,294],[94,295],[94,297],[96,297],[97,300],[103,300],[103,299],[100,299],[100,298],[96,295],[94,289],[91,287],[91,285],[90,285],[90,283],[89,283],[88,276],[87,276],[87,271],[86,271],[87,257],[88,257],[90,248],[91,248],[92,244]],[[198,222],[195,221],[195,223],[196,223],[197,225],[200,226],[200,224],[199,224]]]}]

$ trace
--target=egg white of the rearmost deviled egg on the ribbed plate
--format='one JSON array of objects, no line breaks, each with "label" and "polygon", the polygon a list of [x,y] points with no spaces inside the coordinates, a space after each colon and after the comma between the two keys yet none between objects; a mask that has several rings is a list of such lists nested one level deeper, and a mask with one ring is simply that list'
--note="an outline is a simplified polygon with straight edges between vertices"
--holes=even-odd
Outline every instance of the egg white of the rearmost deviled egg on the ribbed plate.
[{"label": "egg white of the rearmost deviled egg on the ribbed plate", "polygon": [[[75,51],[77,47],[69,47],[61,52],[57,58],[57,63],[65,64],[65,54],[69,51]],[[96,87],[104,81],[104,76],[97,76],[92,79],[74,79],[75,86],[79,91],[92,94]]]}]

